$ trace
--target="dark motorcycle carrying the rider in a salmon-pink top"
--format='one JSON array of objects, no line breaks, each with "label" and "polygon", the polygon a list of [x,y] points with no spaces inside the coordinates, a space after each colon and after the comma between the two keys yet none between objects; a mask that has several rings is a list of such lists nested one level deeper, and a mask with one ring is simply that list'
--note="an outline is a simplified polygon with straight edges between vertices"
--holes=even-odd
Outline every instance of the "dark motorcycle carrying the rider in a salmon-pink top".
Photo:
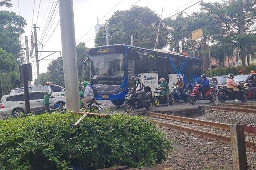
[{"label": "dark motorcycle carrying the rider in a salmon-pink top", "polygon": [[[248,92],[243,86],[238,86],[238,93],[239,97],[237,100],[240,100],[242,102],[246,102],[248,100]],[[218,86],[218,92],[217,92],[218,100],[220,102],[225,102],[226,100],[233,100],[235,99],[235,94],[232,89],[227,88],[227,85],[219,85]]]}]

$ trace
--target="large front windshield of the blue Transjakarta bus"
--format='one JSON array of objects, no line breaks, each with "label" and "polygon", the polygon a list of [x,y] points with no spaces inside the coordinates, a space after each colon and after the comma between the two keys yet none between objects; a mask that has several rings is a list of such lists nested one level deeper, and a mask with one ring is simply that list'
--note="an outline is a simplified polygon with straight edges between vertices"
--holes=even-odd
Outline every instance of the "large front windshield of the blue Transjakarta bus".
[{"label": "large front windshield of the blue Transjakarta bus", "polygon": [[125,61],[123,55],[101,54],[91,56],[93,61],[93,79],[124,77]]}]

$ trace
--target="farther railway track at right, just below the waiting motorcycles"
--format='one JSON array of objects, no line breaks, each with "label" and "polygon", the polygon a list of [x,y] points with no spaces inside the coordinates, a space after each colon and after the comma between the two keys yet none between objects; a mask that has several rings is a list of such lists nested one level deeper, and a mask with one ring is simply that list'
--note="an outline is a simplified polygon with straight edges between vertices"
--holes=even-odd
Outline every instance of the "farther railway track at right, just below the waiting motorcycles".
[{"label": "farther railway track at right, just below the waiting motorcycles", "polygon": [[237,105],[237,104],[218,104],[218,106],[198,106],[204,109],[211,109],[214,111],[233,111],[256,114],[256,106]]}]

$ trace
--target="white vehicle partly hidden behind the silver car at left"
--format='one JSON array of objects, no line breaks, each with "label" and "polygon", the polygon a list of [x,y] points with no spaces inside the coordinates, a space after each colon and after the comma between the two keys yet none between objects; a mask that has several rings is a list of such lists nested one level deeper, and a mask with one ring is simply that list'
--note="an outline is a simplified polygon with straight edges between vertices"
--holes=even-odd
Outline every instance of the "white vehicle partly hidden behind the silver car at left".
[{"label": "white vehicle partly hidden behind the silver car at left", "polygon": [[[55,84],[29,86],[28,91],[43,91],[43,92],[48,91],[48,92],[52,92],[53,97],[59,97],[59,96],[65,97],[65,88]],[[23,92],[24,92],[24,88],[20,87],[20,88],[12,89],[10,94],[23,93]]]}]

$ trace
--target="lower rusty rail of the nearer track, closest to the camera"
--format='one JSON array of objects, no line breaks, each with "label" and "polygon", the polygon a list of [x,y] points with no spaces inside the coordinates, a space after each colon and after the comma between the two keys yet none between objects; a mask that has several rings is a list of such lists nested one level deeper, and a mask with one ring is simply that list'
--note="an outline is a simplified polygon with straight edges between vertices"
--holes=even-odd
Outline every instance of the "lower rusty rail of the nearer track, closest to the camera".
[{"label": "lower rusty rail of the nearer track, closest to the camera", "polygon": [[[175,124],[170,124],[170,123],[165,123],[165,122],[159,122],[159,121],[155,121],[155,120],[152,120],[152,121],[155,124],[158,124],[162,127],[176,129],[176,130],[182,131],[182,132],[189,132],[189,133],[194,134],[196,136],[203,136],[204,138],[207,138],[207,139],[210,139],[210,140],[217,140],[221,143],[230,143],[231,142],[231,139],[230,139],[229,136],[219,135],[219,134],[212,133],[212,132],[201,131],[201,130],[187,128],[187,127],[180,126],[180,125],[175,125]],[[255,147],[255,144],[253,142],[250,142],[250,141],[246,141],[245,144],[248,145],[248,146],[251,146],[251,147]]]}]

